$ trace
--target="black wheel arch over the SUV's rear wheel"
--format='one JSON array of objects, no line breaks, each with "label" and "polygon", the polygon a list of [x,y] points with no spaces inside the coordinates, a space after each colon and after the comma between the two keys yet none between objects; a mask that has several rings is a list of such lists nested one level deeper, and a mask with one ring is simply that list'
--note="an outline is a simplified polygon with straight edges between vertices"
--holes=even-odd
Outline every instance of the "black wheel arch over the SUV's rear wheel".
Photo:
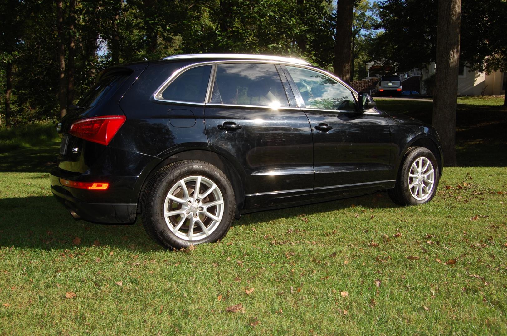
[{"label": "black wheel arch over the SUV's rear wheel", "polygon": [[230,179],[232,188],[234,190],[234,195],[236,199],[236,215],[239,216],[239,212],[243,209],[244,206],[244,183],[245,183],[245,172],[240,168],[234,165],[230,160],[225,158],[223,155],[218,153],[202,150],[202,149],[185,149],[178,151],[176,153],[171,153],[165,159],[163,159],[160,163],[158,163],[144,178],[142,185],[139,190],[139,198],[137,201],[137,212],[140,212],[140,204],[142,195],[146,186],[149,184],[152,177],[158,172],[162,167],[168,166],[178,161],[182,160],[201,160],[212,164],[213,166],[220,169],[224,174]]}]

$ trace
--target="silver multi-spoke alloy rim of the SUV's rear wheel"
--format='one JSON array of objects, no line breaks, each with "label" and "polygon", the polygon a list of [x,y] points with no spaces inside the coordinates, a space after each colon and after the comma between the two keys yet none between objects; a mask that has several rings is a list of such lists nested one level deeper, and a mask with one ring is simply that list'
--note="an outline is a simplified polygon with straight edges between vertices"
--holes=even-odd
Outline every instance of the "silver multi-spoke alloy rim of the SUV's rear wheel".
[{"label": "silver multi-spoke alloy rim of the SUV's rear wheel", "polygon": [[210,235],[222,221],[224,197],[218,185],[204,176],[174,183],[164,202],[164,218],[178,238],[195,242]]}]

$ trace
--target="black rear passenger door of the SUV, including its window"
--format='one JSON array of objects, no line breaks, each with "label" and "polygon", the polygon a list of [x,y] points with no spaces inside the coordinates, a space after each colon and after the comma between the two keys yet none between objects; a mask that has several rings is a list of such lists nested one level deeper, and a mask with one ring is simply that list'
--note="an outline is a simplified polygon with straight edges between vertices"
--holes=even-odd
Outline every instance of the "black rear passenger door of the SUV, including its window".
[{"label": "black rear passenger door of the SUV, including its window", "polygon": [[206,134],[212,150],[244,171],[246,207],[311,199],[310,123],[280,67],[228,61],[216,63],[214,70]]}]

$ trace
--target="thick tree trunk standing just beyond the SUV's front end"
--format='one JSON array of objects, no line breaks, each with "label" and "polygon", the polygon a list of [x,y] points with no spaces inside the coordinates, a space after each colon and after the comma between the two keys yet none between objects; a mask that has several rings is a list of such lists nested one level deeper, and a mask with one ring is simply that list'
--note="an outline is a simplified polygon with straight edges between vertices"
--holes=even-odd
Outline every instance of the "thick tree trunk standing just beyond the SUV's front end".
[{"label": "thick tree trunk standing just beyond the SUV's front end", "polygon": [[439,0],[436,88],[433,120],[442,142],[446,166],[456,162],[456,100],[458,95],[461,0]]}]

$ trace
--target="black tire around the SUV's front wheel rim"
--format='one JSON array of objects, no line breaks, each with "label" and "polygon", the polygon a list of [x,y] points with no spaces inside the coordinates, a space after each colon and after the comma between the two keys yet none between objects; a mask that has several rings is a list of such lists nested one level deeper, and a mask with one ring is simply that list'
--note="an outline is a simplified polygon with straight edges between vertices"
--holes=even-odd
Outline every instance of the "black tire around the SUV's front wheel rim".
[{"label": "black tire around the SUV's front wheel rim", "polygon": [[[434,170],[434,182],[433,188],[429,195],[423,200],[416,199],[410,189],[409,189],[409,172],[412,167],[412,164],[419,160],[420,158],[427,158]],[[407,150],[407,153],[403,157],[402,163],[400,165],[400,169],[398,170],[398,174],[396,176],[396,183],[394,188],[388,189],[387,193],[391,200],[399,205],[419,205],[424,204],[433,199],[435,193],[437,192],[437,187],[440,179],[440,167],[438,166],[438,161],[433,155],[433,153],[424,147],[411,147]]]}]

